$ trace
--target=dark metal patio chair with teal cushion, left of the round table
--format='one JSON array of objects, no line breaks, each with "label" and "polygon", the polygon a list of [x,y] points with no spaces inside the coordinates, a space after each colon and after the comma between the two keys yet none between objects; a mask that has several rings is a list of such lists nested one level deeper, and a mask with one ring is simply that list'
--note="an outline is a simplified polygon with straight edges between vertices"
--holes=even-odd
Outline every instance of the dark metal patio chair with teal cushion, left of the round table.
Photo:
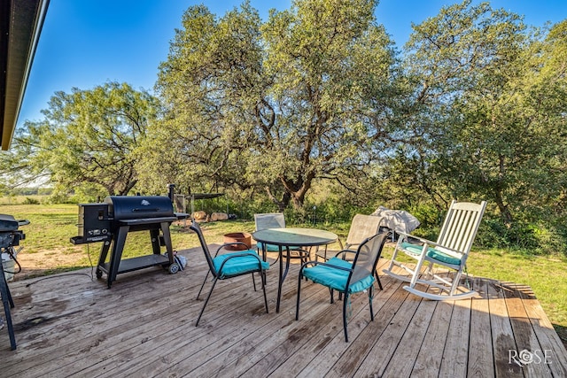
[{"label": "dark metal patio chair with teal cushion, left of the round table", "polygon": [[268,313],[268,298],[266,297],[266,271],[269,269],[269,264],[262,261],[255,251],[237,251],[230,253],[223,253],[219,255],[219,252],[228,245],[244,244],[245,243],[224,243],[219,247],[219,249],[211,256],[211,252],[205,242],[205,237],[201,231],[200,226],[196,221],[193,220],[190,225],[190,229],[193,230],[198,235],[198,240],[201,243],[201,248],[205,253],[206,263],[209,267],[208,272],[205,276],[205,281],[201,285],[201,289],[198,290],[198,297],[201,295],[201,291],[205,287],[206,280],[209,274],[213,274],[213,286],[209,290],[209,294],[206,296],[205,303],[201,312],[198,314],[197,322],[195,327],[198,326],[199,320],[205,311],[206,304],[208,303],[211,294],[213,294],[214,285],[218,280],[225,280],[232,277],[237,277],[239,275],[252,274],[252,282],[254,284],[254,291],[256,291],[256,282],[254,282],[254,272],[260,273],[260,278],[262,282],[262,291],[264,292],[264,305],[266,306],[266,313]]}]

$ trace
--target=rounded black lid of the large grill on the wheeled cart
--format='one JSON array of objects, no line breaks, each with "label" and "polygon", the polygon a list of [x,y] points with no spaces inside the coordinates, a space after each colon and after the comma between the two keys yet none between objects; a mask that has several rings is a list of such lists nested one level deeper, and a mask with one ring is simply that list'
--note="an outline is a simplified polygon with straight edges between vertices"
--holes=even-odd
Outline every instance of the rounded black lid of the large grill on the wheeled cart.
[{"label": "rounded black lid of the large grill on the wheeled cart", "polygon": [[173,217],[174,206],[163,196],[110,196],[105,198],[108,216],[116,220]]}]

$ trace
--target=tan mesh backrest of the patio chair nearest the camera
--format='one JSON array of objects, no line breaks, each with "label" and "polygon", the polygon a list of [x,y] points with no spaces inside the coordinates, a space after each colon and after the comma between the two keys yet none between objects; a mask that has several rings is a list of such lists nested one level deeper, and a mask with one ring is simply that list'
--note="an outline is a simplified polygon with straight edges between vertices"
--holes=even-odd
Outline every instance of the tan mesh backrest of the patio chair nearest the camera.
[{"label": "tan mesh backrest of the patio chair nearest the camera", "polygon": [[374,275],[388,236],[390,232],[372,235],[361,243],[353,260],[353,272],[349,277],[348,285]]}]

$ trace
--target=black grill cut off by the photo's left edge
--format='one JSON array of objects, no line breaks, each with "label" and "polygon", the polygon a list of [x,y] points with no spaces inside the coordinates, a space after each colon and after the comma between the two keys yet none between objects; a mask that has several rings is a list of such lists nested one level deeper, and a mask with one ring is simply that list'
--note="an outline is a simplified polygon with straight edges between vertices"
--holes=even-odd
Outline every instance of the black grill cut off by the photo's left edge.
[{"label": "black grill cut off by the photo's left edge", "polygon": [[[26,235],[18,228],[20,225],[28,224],[27,220],[15,220],[12,215],[0,214],[0,251],[7,252],[12,255],[12,248],[19,245],[19,241],[26,238]],[[4,269],[3,269],[4,270]],[[12,327],[12,315],[10,309],[14,307],[12,294],[8,288],[8,282],[4,272],[0,278],[0,296],[4,305],[4,313],[6,316],[6,325],[8,327],[8,335],[10,336],[10,346],[12,351],[16,349],[16,338],[14,336],[14,328]]]}]

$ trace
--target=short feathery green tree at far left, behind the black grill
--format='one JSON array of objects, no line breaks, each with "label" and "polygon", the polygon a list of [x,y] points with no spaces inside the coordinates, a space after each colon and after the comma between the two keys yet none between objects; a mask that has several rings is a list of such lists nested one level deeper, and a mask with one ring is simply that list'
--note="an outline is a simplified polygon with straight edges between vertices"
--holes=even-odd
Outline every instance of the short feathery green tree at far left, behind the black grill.
[{"label": "short feathery green tree at far left, behind the black grill", "polygon": [[[158,109],[154,97],[126,83],[57,92],[44,119],[19,130],[2,166],[12,175],[26,169],[28,181],[50,177],[58,192],[83,188],[126,195],[137,180],[134,151]],[[7,160],[19,165],[5,165]]]}]

